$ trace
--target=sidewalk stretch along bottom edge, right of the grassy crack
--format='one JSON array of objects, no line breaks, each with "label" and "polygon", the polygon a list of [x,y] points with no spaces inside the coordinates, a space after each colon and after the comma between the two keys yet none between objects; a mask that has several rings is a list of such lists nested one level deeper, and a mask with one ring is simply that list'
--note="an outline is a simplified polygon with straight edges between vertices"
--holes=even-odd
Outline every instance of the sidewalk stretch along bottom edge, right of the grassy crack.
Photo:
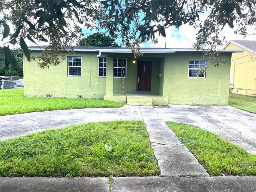
[{"label": "sidewalk stretch along bottom edge, right of the grassy crack", "polygon": [[119,177],[112,192],[255,192],[255,176]]}]

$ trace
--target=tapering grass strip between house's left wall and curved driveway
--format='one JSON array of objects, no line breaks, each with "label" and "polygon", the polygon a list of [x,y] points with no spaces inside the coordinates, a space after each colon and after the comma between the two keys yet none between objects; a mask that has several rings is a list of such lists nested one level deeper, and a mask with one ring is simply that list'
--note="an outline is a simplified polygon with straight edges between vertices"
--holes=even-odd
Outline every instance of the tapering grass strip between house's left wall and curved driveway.
[{"label": "tapering grass strip between house's left wall and curved driveway", "polygon": [[124,103],[96,99],[24,97],[23,95],[23,88],[0,90],[0,116],[36,111],[107,108],[124,105]]}]

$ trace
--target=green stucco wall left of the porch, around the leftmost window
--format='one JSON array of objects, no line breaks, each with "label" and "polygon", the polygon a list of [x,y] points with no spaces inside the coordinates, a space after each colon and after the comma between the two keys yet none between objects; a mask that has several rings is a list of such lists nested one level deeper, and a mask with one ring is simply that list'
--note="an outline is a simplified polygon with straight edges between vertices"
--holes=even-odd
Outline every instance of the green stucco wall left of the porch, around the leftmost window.
[{"label": "green stucco wall left of the porch, around the leftmost window", "polygon": [[[36,54],[40,52],[33,52],[33,55]],[[67,60],[56,67],[41,69],[37,62],[28,62],[24,58],[24,94],[28,96],[52,94],[53,97],[66,98],[84,95],[86,98],[103,98],[106,95],[106,78],[98,78],[98,53],[65,54],[82,57],[82,77],[67,75]]]}]

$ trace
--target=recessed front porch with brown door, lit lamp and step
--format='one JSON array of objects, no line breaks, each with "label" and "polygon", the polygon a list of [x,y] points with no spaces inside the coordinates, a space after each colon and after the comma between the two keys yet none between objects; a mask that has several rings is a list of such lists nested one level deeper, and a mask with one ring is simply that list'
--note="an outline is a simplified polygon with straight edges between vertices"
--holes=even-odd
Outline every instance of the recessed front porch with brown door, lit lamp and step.
[{"label": "recessed front porch with brown door, lit lamp and step", "polygon": [[168,98],[163,96],[163,76],[162,57],[135,59],[134,56],[122,56],[117,59],[115,56],[106,56],[104,100],[127,102],[128,105],[167,104]]}]

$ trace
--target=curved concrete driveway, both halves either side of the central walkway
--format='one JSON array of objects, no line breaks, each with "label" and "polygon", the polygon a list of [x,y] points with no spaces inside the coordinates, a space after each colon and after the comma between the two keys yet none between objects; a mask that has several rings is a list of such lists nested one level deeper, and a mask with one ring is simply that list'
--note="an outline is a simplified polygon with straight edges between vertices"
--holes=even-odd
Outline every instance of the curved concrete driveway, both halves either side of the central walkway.
[{"label": "curved concrete driveway, both halves either side of the central walkway", "polygon": [[[230,106],[170,105],[154,108],[164,121],[185,122],[210,130],[256,154],[256,114]],[[138,106],[32,112],[0,116],[0,140],[86,122],[142,120]]]}]

